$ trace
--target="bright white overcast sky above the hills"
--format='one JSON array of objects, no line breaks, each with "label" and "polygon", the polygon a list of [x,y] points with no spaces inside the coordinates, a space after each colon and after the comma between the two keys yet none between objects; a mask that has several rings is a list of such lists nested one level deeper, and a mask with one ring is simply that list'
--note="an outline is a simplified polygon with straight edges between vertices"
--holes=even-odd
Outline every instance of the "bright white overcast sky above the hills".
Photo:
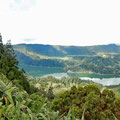
[{"label": "bright white overcast sky above the hills", "polygon": [[0,0],[3,42],[120,44],[120,0]]}]

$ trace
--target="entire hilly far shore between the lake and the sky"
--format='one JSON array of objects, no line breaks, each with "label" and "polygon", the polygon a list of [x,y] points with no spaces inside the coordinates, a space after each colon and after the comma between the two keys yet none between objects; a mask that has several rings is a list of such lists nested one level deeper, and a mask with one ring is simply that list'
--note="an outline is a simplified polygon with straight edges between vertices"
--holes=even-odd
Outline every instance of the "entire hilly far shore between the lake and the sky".
[{"label": "entire hilly far shore between the lake and the sky", "polygon": [[14,45],[21,65],[63,67],[73,72],[120,74],[120,46]]}]

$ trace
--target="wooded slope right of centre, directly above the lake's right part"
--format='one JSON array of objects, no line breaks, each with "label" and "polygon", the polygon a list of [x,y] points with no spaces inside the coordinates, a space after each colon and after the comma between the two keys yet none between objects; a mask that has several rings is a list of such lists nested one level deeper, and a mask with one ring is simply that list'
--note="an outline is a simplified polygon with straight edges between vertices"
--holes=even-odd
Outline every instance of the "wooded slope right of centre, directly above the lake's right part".
[{"label": "wooded slope right of centre, directly above the lake's right part", "polygon": [[75,56],[80,61],[76,66],[69,66],[67,69],[80,72],[94,72],[100,74],[120,74],[120,55],[102,56]]}]

